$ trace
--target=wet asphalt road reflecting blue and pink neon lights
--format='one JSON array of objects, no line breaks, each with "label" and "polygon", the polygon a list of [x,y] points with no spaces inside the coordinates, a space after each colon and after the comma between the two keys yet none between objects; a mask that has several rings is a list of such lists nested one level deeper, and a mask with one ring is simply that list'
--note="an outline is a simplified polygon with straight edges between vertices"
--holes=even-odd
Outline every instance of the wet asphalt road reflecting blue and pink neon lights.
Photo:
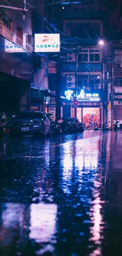
[{"label": "wet asphalt road reflecting blue and pink neon lights", "polygon": [[0,141],[0,256],[122,255],[122,132]]}]

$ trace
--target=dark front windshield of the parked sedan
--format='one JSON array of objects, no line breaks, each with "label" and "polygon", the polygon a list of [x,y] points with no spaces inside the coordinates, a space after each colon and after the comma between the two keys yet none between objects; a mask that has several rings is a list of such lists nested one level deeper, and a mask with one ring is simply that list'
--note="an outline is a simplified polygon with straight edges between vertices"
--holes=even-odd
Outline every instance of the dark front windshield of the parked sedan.
[{"label": "dark front windshield of the parked sedan", "polygon": [[44,118],[42,112],[21,112],[16,116],[17,119],[36,119]]}]

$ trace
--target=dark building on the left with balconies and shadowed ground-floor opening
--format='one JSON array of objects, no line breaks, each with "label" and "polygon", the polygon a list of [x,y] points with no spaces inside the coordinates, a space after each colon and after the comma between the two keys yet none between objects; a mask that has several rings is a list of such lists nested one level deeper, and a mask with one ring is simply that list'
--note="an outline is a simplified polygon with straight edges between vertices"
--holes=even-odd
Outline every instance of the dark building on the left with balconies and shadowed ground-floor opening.
[{"label": "dark building on the left with balconies and shadowed ground-floor opening", "polygon": [[[20,1],[1,1],[5,4],[24,8]],[[43,24],[33,7],[34,1],[29,0],[27,12],[0,8],[0,112],[44,107],[48,59],[34,52],[34,34],[42,33]]]}]

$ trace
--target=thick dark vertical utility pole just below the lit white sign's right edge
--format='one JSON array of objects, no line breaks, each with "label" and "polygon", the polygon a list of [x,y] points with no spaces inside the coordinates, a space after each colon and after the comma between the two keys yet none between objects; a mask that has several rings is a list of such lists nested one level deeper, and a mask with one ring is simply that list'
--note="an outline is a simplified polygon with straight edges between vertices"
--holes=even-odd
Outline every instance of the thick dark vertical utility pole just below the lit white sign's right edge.
[{"label": "thick dark vertical utility pole just below the lit white sign's right edge", "polygon": [[56,83],[56,110],[55,110],[55,120],[61,119],[61,59],[57,56],[57,83]]}]

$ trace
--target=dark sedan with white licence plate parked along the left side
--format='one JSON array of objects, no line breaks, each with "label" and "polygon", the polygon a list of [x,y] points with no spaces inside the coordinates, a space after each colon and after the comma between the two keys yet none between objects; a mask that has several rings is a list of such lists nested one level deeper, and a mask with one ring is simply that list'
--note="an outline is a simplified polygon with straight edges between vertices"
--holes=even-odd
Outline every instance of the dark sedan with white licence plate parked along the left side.
[{"label": "dark sedan with white licence plate parked along the left side", "polygon": [[27,134],[51,135],[51,124],[43,111],[23,111],[12,121],[10,136]]}]

